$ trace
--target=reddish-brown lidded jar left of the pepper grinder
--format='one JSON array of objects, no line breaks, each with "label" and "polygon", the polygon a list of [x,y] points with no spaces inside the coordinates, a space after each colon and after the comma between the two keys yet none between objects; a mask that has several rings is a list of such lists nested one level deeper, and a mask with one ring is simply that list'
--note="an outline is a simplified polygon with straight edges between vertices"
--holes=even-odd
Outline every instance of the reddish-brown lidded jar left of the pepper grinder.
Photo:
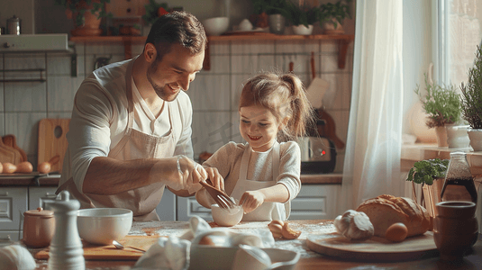
[{"label": "reddish-brown lidded jar left of the pepper grinder", "polygon": [[23,243],[27,247],[49,247],[55,232],[53,211],[29,210],[23,213]]}]

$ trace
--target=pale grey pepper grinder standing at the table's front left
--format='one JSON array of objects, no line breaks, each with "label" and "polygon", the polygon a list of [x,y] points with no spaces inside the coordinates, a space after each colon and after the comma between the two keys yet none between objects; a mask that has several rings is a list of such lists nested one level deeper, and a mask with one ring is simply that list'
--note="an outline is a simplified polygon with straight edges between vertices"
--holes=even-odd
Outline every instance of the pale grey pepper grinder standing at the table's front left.
[{"label": "pale grey pepper grinder standing at the table's front left", "polygon": [[50,270],[86,269],[84,249],[77,229],[80,202],[69,197],[68,191],[62,191],[55,201],[49,203],[55,218],[55,233],[49,251]]}]

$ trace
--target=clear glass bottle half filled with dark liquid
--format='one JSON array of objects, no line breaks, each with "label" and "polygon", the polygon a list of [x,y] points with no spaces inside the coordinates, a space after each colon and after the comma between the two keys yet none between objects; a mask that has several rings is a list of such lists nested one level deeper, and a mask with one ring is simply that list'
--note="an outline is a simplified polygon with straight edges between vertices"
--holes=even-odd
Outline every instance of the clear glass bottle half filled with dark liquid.
[{"label": "clear glass bottle half filled with dark liquid", "polygon": [[450,163],[441,189],[441,201],[468,201],[477,203],[477,190],[470,173],[467,154],[450,153]]}]

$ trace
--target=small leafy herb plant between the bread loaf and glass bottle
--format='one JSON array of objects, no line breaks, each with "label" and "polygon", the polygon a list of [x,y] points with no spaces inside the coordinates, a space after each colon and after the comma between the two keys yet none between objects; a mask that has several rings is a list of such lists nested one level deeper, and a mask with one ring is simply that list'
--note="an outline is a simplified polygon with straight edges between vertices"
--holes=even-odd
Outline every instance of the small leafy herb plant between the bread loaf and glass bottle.
[{"label": "small leafy herb plant between the bread loaf and glass bottle", "polygon": [[415,184],[422,184],[421,202],[432,217],[437,214],[435,204],[441,202],[441,189],[449,163],[449,159],[440,158],[417,161],[406,177],[406,181],[412,182],[415,201]]}]

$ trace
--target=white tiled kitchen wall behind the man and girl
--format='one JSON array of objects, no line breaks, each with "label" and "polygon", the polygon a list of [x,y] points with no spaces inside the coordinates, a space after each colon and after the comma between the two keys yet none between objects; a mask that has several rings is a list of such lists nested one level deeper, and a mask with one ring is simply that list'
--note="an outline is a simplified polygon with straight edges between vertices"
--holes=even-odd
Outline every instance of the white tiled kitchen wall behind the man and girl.
[{"label": "white tiled kitchen wall behind the man and girl", "polygon": [[[352,44],[346,67],[338,68],[338,41],[332,40],[242,40],[209,43],[211,70],[202,70],[187,91],[193,103],[195,157],[214,152],[229,141],[244,142],[239,131],[238,101],[242,83],[260,71],[288,71],[308,87],[312,81],[311,52],[316,75],[330,82],[334,91],[328,111],[336,123],[337,136],[346,140],[350,112]],[[17,144],[36,161],[38,123],[42,118],[70,118],[78,86],[94,69],[95,58],[124,58],[123,44],[78,43],[77,76],[70,75],[70,55],[65,53],[0,54],[0,68],[46,68],[46,83],[0,83],[0,135],[14,134]],[[132,46],[132,56],[143,44]],[[4,72],[0,72],[0,77]],[[22,76],[31,76],[20,74]],[[20,76],[10,75],[10,76]],[[335,171],[342,171],[344,149],[337,149]]]}]

